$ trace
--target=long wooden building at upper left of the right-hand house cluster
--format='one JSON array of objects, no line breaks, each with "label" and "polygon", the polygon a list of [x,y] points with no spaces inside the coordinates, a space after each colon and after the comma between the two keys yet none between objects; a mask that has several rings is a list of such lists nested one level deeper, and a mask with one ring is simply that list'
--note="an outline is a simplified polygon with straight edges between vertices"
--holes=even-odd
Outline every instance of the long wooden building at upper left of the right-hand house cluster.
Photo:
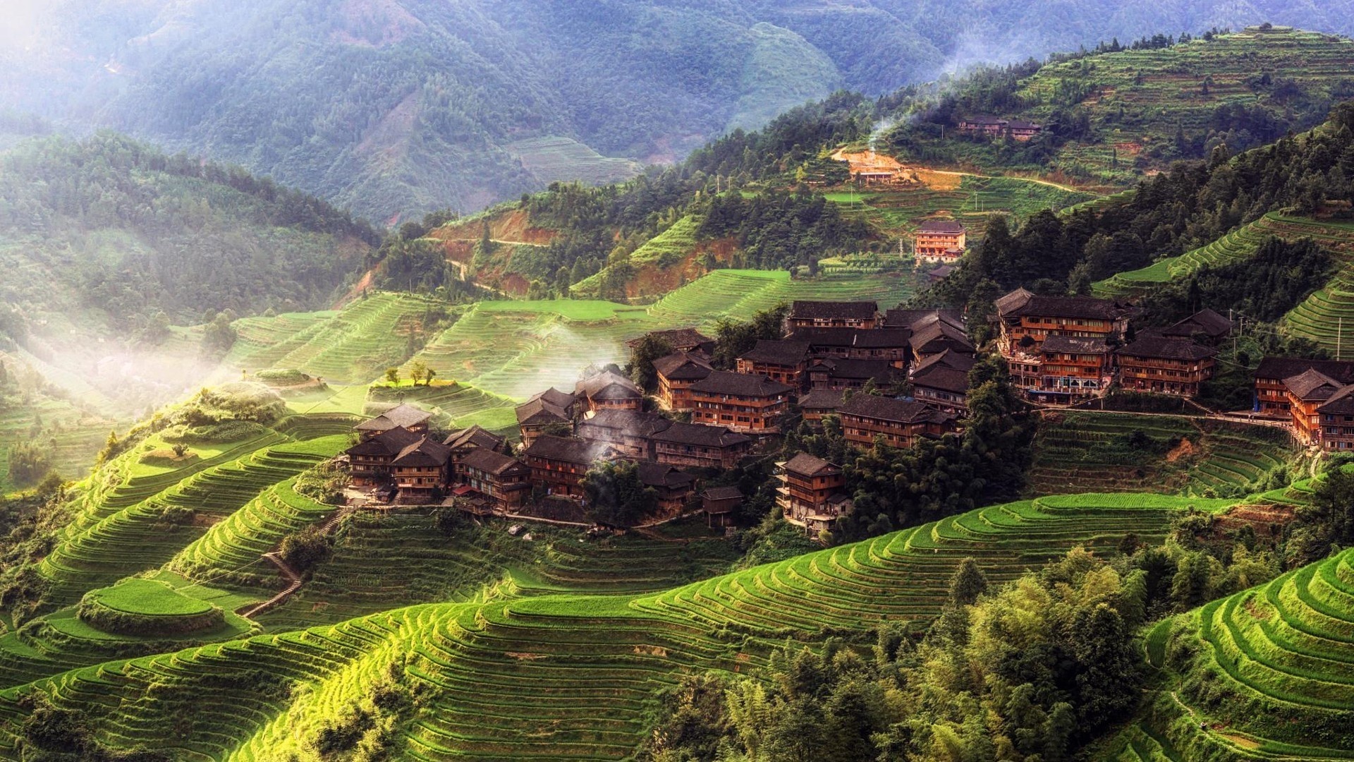
[{"label": "long wooden building at upper left of the right-hand house cluster", "polygon": [[1048,336],[1121,336],[1129,315],[1129,308],[1110,300],[1041,297],[1016,289],[997,300],[997,346],[1007,359],[1020,354],[1037,357]]}]

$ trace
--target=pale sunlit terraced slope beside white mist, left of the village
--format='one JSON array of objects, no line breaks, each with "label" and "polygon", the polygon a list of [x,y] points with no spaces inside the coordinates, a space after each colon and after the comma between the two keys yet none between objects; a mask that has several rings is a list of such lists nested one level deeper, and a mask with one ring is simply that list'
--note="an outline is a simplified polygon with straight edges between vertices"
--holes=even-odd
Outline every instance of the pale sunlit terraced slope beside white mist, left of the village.
[{"label": "pale sunlit terraced slope beside white mist, left of the village", "polygon": [[408,336],[422,335],[422,315],[431,304],[413,294],[378,293],[341,312],[246,317],[236,321],[240,338],[223,363],[367,382],[405,361]]}]

